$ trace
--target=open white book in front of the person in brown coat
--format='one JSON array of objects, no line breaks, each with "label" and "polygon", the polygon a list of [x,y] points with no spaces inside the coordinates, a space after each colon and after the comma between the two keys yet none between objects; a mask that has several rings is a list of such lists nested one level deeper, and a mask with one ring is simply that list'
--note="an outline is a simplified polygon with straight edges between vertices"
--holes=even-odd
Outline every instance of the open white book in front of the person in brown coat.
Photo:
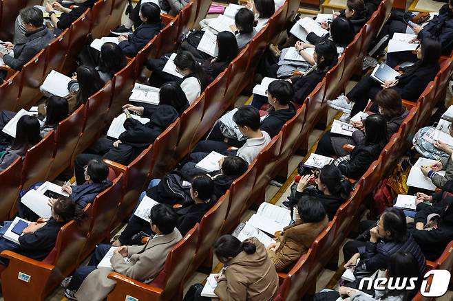
[{"label": "open white book in front of the person in brown coat", "polygon": [[262,203],[258,211],[249,219],[249,223],[253,227],[274,235],[277,231],[283,231],[283,228],[291,223],[291,212],[271,203]]}]

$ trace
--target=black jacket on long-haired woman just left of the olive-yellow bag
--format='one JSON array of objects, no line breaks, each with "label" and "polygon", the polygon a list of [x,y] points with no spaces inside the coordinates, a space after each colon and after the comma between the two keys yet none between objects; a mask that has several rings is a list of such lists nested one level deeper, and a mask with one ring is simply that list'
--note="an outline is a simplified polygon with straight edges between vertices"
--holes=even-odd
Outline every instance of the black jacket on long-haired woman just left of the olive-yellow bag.
[{"label": "black jacket on long-haired woman just left of the olive-yellow bag", "polygon": [[342,161],[338,168],[344,176],[358,180],[364,175],[372,162],[379,157],[382,148],[383,146],[377,144],[365,145],[361,143],[355,146],[350,153],[350,160]]}]

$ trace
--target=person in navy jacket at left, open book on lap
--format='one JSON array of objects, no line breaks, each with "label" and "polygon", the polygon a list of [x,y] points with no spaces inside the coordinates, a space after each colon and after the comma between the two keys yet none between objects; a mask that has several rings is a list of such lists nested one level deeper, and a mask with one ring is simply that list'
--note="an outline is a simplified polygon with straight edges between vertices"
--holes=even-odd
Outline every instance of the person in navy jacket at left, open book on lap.
[{"label": "person in navy jacket at left, open book on lap", "polygon": [[[93,203],[96,196],[112,186],[112,182],[107,179],[109,175],[109,168],[104,161],[91,160],[85,166],[85,182],[79,181],[78,185],[65,184],[62,187],[63,192],[70,195],[72,201],[76,204],[76,208],[83,210],[89,203]],[[37,189],[43,183],[35,183],[30,189]],[[32,212],[27,206],[21,203],[21,197],[28,192],[28,190],[22,190],[17,200],[17,215],[28,221],[36,221],[39,216]],[[51,201],[52,203],[52,201]]]}]

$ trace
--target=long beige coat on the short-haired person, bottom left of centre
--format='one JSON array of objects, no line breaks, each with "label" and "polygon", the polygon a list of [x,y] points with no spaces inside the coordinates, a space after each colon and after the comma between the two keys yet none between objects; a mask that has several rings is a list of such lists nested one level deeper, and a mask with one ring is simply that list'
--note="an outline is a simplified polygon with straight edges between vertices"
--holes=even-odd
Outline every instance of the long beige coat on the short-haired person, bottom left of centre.
[{"label": "long beige coat on the short-haired person, bottom left of centre", "polygon": [[[133,245],[127,247],[126,263],[123,256],[114,254],[110,258],[114,271],[132,279],[151,282],[162,270],[173,245],[181,240],[180,232],[175,228],[167,235],[161,235],[150,239],[145,246]],[[112,272],[110,269],[96,269],[92,271],[78,289],[76,298],[78,301],[105,300],[107,295],[114,289],[116,282],[107,278]]]}]

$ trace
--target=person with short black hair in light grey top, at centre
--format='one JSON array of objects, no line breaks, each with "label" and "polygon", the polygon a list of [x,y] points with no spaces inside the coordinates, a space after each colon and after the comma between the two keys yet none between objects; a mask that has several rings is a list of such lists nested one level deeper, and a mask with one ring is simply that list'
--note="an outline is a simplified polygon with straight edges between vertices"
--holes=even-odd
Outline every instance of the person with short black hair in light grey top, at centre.
[{"label": "person with short black hair in light grey top, at centre", "polygon": [[237,155],[251,164],[260,151],[271,142],[271,137],[265,131],[260,130],[260,112],[252,106],[242,106],[234,113],[233,121],[238,125],[242,135],[247,137],[243,146],[238,150],[228,150],[229,144],[221,141],[204,140],[198,142],[189,155],[189,161],[199,162],[211,151],[224,155]]}]

